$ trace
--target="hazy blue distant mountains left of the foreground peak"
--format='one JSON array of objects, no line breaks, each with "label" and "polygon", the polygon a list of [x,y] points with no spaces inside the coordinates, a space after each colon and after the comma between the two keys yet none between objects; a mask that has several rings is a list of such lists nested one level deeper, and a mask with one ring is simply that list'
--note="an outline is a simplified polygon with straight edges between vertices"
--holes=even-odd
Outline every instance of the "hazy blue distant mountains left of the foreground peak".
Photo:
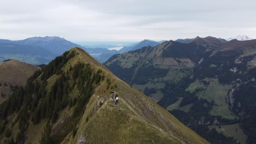
[{"label": "hazy blue distant mountains left of the foreground peak", "polygon": [[14,41],[1,39],[0,61],[13,58],[34,65],[47,64],[75,46],[84,48],[60,37],[32,37]]}]

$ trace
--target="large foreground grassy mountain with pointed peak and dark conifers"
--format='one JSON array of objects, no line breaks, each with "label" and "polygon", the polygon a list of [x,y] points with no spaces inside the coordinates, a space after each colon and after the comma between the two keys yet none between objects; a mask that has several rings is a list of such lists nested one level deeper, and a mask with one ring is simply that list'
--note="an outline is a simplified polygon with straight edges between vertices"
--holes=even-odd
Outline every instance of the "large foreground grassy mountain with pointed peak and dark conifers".
[{"label": "large foreground grassy mountain with pointed peak and dark conifers", "polygon": [[34,73],[0,113],[0,143],[208,143],[77,47]]}]

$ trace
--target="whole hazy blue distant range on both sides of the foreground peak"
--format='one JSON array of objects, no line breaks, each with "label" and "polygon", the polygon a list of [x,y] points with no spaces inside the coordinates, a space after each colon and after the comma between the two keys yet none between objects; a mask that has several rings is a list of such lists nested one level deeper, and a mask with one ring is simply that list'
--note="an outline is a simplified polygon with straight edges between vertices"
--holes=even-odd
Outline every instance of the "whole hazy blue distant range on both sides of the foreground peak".
[{"label": "whole hazy blue distant range on both sides of the foreground peak", "polygon": [[117,53],[140,49],[143,46],[155,46],[158,44],[160,44],[160,42],[143,40],[133,46],[123,47],[123,49],[117,51],[97,47],[88,49],[60,37],[32,37],[15,41],[0,39],[0,62],[5,59],[13,58],[34,65],[47,64],[54,57],[71,49],[72,47],[80,47],[97,59],[97,61],[104,63],[111,56]]}]

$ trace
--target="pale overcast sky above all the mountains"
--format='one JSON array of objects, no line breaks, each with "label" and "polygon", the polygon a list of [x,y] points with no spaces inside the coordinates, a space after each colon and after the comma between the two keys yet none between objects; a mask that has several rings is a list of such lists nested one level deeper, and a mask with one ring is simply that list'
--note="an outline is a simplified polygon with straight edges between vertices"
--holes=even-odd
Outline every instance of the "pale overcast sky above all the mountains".
[{"label": "pale overcast sky above all the mountains", "polygon": [[0,39],[72,41],[256,38],[256,1],[1,0]]}]

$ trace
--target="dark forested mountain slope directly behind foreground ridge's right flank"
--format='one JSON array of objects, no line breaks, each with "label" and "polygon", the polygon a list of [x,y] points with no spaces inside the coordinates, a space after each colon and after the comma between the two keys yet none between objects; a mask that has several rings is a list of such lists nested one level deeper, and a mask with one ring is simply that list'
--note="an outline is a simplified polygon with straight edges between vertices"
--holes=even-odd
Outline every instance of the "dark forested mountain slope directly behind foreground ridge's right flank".
[{"label": "dark forested mountain slope directly behind foreground ridge's right flank", "polygon": [[208,49],[217,45],[208,45],[205,41],[199,37],[188,44],[170,40],[156,47],[114,55],[105,65],[120,79],[159,101],[167,94],[162,93],[167,91],[164,90],[167,83],[177,83],[191,75]]}]

